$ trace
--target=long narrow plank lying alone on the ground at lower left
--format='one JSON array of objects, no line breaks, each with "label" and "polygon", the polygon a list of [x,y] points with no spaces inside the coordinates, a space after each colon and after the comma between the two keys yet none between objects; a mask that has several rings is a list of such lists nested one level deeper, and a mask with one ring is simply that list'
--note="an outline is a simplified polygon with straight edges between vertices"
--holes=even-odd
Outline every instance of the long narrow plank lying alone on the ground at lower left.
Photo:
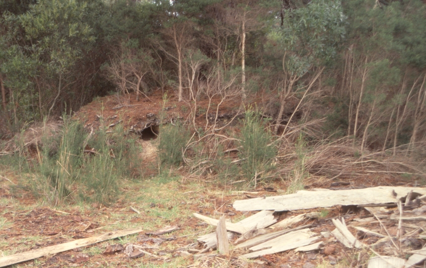
[{"label": "long narrow plank lying alone on the ground at lower left", "polygon": [[121,236],[126,236],[130,234],[135,234],[142,232],[142,229],[128,229],[121,231],[108,232],[101,235],[91,236],[83,239],[74,240],[71,242],[54,245],[46,248],[30,250],[22,253],[13,254],[10,256],[5,256],[0,258],[0,267],[5,267],[33,259],[37,259],[46,255],[52,255],[67,250],[72,250],[75,248],[89,246],[95,243],[99,243],[105,240],[114,239]]}]

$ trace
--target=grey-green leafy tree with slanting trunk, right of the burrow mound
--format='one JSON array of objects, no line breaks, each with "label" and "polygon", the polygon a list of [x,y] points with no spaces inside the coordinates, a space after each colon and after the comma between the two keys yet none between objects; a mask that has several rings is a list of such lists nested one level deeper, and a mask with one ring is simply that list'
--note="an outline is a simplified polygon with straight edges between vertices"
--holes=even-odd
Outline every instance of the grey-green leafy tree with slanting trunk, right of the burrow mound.
[{"label": "grey-green leafy tree with slanting trunk, right of the burrow mound", "polygon": [[284,71],[274,133],[278,132],[285,101],[296,83],[313,67],[327,64],[337,54],[345,32],[344,19],[339,1],[312,1],[304,7],[287,10],[282,26],[275,26],[269,32],[269,53],[281,59]]}]

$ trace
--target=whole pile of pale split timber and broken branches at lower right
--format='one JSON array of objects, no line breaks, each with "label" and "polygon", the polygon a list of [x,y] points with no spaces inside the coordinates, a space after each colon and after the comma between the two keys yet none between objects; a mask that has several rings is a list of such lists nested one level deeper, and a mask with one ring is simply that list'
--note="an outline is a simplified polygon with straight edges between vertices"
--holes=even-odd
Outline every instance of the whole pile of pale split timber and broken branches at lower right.
[{"label": "whole pile of pale split timber and broken branches at lower right", "polygon": [[[242,249],[239,258],[252,259],[267,254],[294,251],[320,251],[332,255],[333,243],[367,252],[368,267],[408,268],[426,259],[426,188],[375,187],[354,190],[299,191],[296,194],[254,198],[234,202],[240,211],[260,210],[236,223],[212,219],[197,213],[194,216],[217,226],[214,233],[200,236],[205,250],[217,248],[229,254],[229,240]],[[314,225],[303,225],[316,212],[300,213],[279,222],[275,211],[295,211],[334,206],[353,206],[360,213],[330,219],[334,230],[314,232]],[[319,214],[319,213],[317,213]],[[318,215],[317,215],[318,217]],[[348,224],[346,225],[346,222]],[[299,226],[298,226],[299,225]],[[349,228],[348,228],[349,227]],[[355,234],[355,235],[354,235]],[[408,257],[402,259],[401,257]],[[197,258],[200,258],[198,256]]]}]

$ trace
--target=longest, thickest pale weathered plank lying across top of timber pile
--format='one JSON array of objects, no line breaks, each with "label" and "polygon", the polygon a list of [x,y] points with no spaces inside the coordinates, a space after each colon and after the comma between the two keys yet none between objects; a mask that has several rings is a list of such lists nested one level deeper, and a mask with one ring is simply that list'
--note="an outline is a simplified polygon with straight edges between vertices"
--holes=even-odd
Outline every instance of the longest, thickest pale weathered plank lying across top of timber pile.
[{"label": "longest, thickest pale weathered plank lying across top of timber pile", "polygon": [[420,187],[374,187],[339,191],[299,191],[295,194],[237,200],[234,208],[247,210],[297,210],[335,205],[362,205],[396,202],[406,197],[410,191],[419,195],[426,194],[426,188]]}]

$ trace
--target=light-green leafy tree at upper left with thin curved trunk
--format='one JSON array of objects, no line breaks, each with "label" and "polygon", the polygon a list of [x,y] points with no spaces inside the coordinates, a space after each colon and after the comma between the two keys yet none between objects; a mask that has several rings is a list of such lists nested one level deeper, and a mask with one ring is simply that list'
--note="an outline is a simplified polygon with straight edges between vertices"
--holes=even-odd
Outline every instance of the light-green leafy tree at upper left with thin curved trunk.
[{"label": "light-green leafy tree at upper left with thin curved trunk", "polygon": [[41,0],[19,18],[26,37],[36,44],[33,45],[33,53],[39,53],[47,73],[57,79],[56,96],[51,102],[48,117],[62,91],[73,83],[68,79],[71,68],[94,42],[91,28],[83,22],[85,8],[86,3],[77,0]]}]

